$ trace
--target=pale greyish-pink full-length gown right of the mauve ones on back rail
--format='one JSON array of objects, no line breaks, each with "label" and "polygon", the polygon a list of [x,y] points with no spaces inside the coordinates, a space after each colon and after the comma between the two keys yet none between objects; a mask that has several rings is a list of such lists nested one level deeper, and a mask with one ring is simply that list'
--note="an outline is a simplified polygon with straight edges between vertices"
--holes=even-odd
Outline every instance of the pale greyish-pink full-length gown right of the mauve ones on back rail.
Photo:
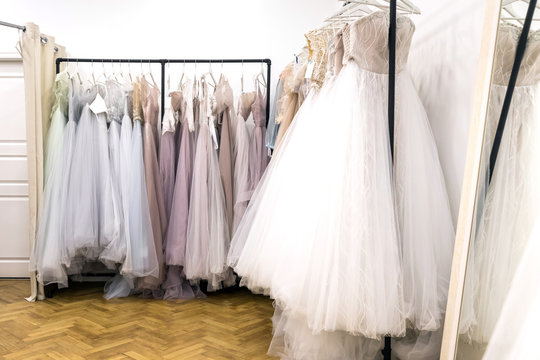
[{"label": "pale greyish-pink full-length gown right of the mauve ones on back rail", "polygon": [[230,238],[219,174],[217,138],[213,131],[212,99],[204,79],[201,85],[200,128],[193,163],[185,273],[192,282],[208,281],[208,291],[214,291],[234,285],[235,278],[227,266]]}]

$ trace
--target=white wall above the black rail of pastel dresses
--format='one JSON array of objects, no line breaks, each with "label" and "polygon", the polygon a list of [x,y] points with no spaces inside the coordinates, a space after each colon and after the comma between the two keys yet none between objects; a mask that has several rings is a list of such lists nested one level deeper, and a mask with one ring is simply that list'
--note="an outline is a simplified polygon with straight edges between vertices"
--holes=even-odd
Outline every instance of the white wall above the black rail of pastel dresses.
[{"label": "white wall above the black rail of pastel dresses", "polygon": [[[340,6],[336,0],[4,0],[1,20],[38,24],[72,57],[270,58],[276,84],[304,45],[303,34]],[[245,71],[247,83],[260,66]]]}]

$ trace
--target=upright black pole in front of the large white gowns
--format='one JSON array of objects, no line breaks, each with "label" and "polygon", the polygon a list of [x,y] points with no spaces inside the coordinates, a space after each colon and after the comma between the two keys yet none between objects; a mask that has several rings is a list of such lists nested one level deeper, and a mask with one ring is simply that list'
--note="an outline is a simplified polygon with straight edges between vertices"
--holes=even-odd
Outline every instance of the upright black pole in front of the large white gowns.
[{"label": "upright black pole in front of the large white gowns", "polygon": [[388,28],[388,133],[390,154],[394,159],[394,104],[396,86],[396,0],[390,0],[390,26]]}]

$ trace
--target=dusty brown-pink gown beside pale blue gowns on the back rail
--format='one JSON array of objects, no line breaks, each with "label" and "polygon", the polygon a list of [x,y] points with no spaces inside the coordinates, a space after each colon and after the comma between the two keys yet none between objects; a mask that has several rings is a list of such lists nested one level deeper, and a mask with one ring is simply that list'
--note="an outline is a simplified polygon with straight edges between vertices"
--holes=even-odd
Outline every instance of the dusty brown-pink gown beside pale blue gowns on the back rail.
[{"label": "dusty brown-pink gown beside pale blue gowns on the back rail", "polygon": [[[167,215],[163,201],[163,185],[158,164],[159,90],[143,78],[141,83],[141,102],[144,114],[143,148],[146,195],[150,207],[152,232],[159,265],[159,277],[144,277],[139,281],[140,289],[157,290],[163,281],[163,238],[167,231]],[[156,294],[154,294],[156,296]],[[159,295],[158,295],[159,296]]]}]

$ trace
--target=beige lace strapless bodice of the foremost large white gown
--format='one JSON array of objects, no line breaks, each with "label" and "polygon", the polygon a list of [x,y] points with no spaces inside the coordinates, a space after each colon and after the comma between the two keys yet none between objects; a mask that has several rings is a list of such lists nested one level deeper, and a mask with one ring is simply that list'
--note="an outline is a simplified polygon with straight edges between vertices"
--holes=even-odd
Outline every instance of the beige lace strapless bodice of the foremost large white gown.
[{"label": "beige lace strapless bodice of the foremost large white gown", "polygon": [[[362,69],[388,73],[388,26],[390,16],[378,11],[343,29],[343,62],[354,60]],[[396,73],[407,64],[415,27],[411,19],[398,16],[396,29]]]}]

